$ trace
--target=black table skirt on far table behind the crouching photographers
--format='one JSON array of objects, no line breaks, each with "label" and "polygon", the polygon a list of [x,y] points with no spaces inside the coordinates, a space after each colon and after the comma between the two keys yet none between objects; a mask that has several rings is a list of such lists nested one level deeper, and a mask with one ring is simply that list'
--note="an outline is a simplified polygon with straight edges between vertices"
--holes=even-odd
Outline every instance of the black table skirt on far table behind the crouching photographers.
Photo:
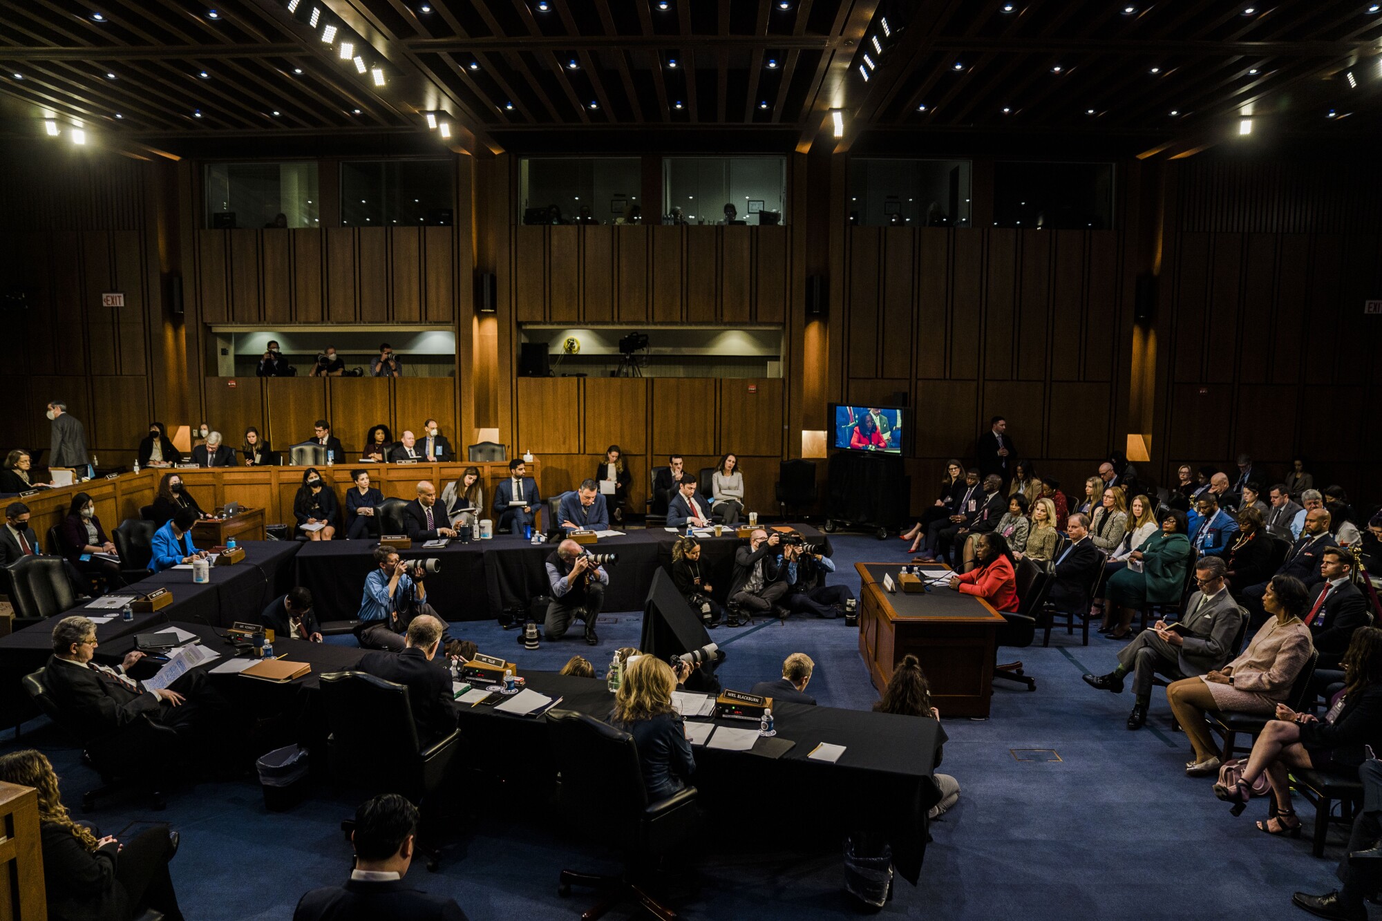
[{"label": "black table skirt on far table behind the crouching photographers", "polygon": [[[795,525],[813,546],[832,553],[829,538],[815,528]],[[677,535],[663,528],[634,530],[622,537],[604,538],[587,545],[593,553],[615,553],[604,610],[638,611],[652,588],[652,574],[672,566],[672,545]],[[701,568],[717,588],[730,589],[734,552],[742,541],[726,537],[701,538]],[[303,545],[296,557],[297,582],[312,592],[318,620],[352,620],[359,613],[365,577],[375,568],[375,543],[366,541],[315,541]],[[437,557],[441,573],[427,577],[428,602],[448,621],[484,621],[499,617],[506,607],[529,610],[532,599],[551,595],[546,560],[556,550],[551,543],[532,545],[502,534],[489,541],[452,542],[439,550],[415,545],[404,550],[405,559]],[[719,599],[721,603],[723,597]]]}]

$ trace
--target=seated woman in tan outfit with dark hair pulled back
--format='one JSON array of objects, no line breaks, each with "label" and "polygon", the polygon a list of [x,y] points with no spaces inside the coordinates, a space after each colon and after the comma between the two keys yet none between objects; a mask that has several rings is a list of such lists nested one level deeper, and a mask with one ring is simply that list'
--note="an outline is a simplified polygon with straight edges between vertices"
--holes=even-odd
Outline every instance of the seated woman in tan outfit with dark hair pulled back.
[{"label": "seated woman in tan outfit with dark hair pulled back", "polygon": [[1267,582],[1262,607],[1276,614],[1248,643],[1238,658],[1198,678],[1184,678],[1166,687],[1166,700],[1176,722],[1194,745],[1194,759],[1186,776],[1206,777],[1219,770],[1213,737],[1205,723],[1206,709],[1260,714],[1270,718],[1287,700],[1291,685],[1314,650],[1305,614],[1310,595],[1294,575],[1276,575]]}]

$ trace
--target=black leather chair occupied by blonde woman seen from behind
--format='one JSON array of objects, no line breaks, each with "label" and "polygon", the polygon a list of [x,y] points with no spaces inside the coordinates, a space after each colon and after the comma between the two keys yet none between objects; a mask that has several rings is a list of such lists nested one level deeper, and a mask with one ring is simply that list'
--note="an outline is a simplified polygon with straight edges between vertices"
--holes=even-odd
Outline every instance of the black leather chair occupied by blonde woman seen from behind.
[{"label": "black leather chair occupied by blonde woman seen from behind", "polygon": [[648,892],[662,857],[685,842],[701,821],[697,788],[648,802],[633,736],[593,716],[565,709],[547,712],[547,738],[561,773],[561,802],[579,828],[600,828],[600,839],[623,850],[623,874],[601,877],[562,870],[557,892],[594,886],[604,899],[583,918],[598,918],[623,902],[638,903],[656,918],[676,918]]}]

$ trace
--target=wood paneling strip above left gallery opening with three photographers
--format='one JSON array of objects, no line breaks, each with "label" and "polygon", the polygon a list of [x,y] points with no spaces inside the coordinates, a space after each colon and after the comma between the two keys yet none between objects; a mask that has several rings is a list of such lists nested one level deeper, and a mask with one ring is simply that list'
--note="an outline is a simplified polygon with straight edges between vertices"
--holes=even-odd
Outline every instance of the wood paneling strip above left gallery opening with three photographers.
[{"label": "wood paneling strip above left gallery opening with three photographers", "polygon": [[452,227],[196,232],[207,324],[451,325],[470,274]]}]

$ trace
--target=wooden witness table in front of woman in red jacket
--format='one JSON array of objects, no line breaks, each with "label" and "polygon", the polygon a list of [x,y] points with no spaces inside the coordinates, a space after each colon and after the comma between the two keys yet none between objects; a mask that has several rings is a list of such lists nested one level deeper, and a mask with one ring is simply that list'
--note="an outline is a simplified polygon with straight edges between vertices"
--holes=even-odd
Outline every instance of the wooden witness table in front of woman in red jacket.
[{"label": "wooden witness table in front of woman in red jacket", "polygon": [[[901,563],[855,563],[860,574],[860,654],[873,686],[882,693],[893,668],[911,653],[920,661],[931,698],[945,716],[988,716],[994,694],[998,628],[1006,621],[984,599],[949,588],[907,595],[883,588],[894,582]],[[933,575],[948,567],[929,564]]]}]

